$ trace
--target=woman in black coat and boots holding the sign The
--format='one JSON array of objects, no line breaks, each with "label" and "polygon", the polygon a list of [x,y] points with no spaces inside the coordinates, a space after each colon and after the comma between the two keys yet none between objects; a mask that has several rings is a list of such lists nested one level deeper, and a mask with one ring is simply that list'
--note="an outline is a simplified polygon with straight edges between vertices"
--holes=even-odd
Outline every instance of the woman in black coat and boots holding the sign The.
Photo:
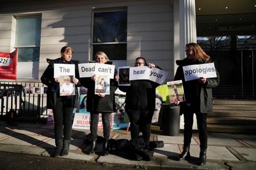
[{"label": "woman in black coat and boots holding the sign The", "polygon": [[[55,138],[55,152],[54,157],[68,155],[69,145],[72,133],[72,113],[77,106],[78,92],[77,87],[81,86],[79,83],[78,75],[78,63],[77,60],[72,60],[73,50],[69,46],[63,46],[61,48],[61,57],[58,59],[47,59],[49,65],[42,74],[41,81],[47,85],[47,108],[52,109],[54,116],[54,138]],[[72,76],[65,76],[65,81],[75,84],[75,95],[61,96],[63,91],[60,88],[61,78],[54,78],[54,64],[75,64],[75,74]],[[71,95],[71,94],[70,94]],[[64,136],[64,137],[63,137]]]}]

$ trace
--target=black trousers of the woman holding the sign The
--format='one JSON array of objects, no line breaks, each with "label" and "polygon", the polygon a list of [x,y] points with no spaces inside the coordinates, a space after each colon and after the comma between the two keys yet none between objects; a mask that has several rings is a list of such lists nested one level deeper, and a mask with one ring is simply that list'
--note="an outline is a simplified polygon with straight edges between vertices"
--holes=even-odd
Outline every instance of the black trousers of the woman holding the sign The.
[{"label": "black trousers of the woman holding the sign The", "polygon": [[55,139],[70,140],[72,134],[72,113],[74,108],[70,107],[70,99],[56,99],[56,106],[52,109],[54,117]]}]

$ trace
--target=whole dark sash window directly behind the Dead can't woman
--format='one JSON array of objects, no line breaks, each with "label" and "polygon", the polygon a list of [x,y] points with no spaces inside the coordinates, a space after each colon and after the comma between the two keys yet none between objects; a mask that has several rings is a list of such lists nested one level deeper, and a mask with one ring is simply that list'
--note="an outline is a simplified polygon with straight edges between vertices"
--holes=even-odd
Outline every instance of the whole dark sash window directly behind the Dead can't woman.
[{"label": "whole dark sash window directly behind the Dead can't woman", "polygon": [[93,13],[93,60],[102,51],[111,60],[127,57],[127,11]]}]

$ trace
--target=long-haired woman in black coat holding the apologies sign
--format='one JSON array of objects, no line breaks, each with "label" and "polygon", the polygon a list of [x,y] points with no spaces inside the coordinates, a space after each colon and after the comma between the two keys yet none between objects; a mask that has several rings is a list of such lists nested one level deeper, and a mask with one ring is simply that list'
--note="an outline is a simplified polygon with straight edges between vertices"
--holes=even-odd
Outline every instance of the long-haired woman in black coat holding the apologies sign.
[{"label": "long-haired woman in black coat holding the apologies sign", "polygon": [[177,60],[179,65],[174,80],[182,80],[186,101],[180,103],[179,99],[175,104],[180,104],[180,115],[184,114],[184,146],[178,160],[189,159],[189,146],[192,138],[193,115],[196,114],[196,122],[200,139],[200,155],[198,165],[206,162],[207,150],[207,113],[212,113],[212,87],[220,83],[220,76],[216,71],[215,78],[200,77],[197,80],[185,81],[184,66],[193,64],[210,63],[210,56],[196,43],[186,45],[186,58]]}]

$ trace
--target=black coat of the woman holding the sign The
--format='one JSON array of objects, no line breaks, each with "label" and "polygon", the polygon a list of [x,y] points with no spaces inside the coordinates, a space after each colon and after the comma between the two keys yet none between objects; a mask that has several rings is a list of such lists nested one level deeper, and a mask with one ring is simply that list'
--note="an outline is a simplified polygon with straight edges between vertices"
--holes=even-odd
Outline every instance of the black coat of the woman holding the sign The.
[{"label": "black coat of the woman holding the sign The", "polygon": [[[58,64],[64,64],[63,60],[61,58],[58,59],[47,59],[47,62],[49,63],[49,65],[47,66],[47,68],[45,69],[44,73],[41,76],[41,81],[44,85],[47,85],[48,89],[47,89],[47,108],[48,109],[52,109],[55,107],[56,104],[56,97],[60,97],[60,93],[59,92],[52,92],[52,87],[57,87],[60,86],[60,83],[56,83],[56,81],[54,81],[54,63],[58,63]],[[79,78],[79,71],[78,71],[78,64],[79,61],[77,60],[70,60],[70,62],[68,62],[67,64],[75,64],[75,68],[76,68],[76,78]],[[71,96],[71,103],[70,103],[70,107],[77,107],[78,104],[78,91],[77,91],[77,87],[81,86],[80,82],[77,83],[76,85],[76,95]],[[66,97],[67,96],[63,96]]]}]

